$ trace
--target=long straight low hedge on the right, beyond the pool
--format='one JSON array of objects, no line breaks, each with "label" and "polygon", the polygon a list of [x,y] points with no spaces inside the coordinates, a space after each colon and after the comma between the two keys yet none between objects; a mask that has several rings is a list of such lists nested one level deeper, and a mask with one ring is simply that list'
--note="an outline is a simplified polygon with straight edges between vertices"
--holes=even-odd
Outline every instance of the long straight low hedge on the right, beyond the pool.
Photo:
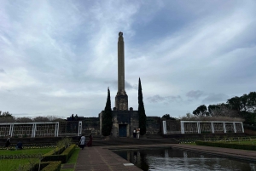
[{"label": "long straight low hedge on the right, beyond the pool", "polygon": [[201,141],[201,140],[195,141],[195,144],[256,151],[256,145],[235,144],[235,143],[227,143],[227,142],[209,142],[209,141]]}]

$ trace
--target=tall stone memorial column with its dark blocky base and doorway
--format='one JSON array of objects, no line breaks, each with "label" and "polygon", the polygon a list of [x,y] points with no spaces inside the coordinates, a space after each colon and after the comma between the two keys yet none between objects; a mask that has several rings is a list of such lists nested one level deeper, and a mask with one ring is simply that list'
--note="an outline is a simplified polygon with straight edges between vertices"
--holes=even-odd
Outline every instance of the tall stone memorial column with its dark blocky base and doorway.
[{"label": "tall stone memorial column with its dark blocky base and doorway", "polygon": [[[102,112],[99,114],[101,132]],[[128,95],[125,92],[125,43],[123,32],[119,32],[118,39],[118,92],[115,96],[115,107],[113,107],[112,116],[111,136],[131,137],[133,129],[138,127],[138,112],[133,111],[132,107],[128,110]]]}]

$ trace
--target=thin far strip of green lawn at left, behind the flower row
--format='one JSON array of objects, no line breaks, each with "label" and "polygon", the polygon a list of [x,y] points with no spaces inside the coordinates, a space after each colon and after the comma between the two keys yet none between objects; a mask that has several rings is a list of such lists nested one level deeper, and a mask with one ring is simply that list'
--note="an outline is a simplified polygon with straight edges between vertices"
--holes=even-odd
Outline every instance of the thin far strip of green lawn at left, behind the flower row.
[{"label": "thin far strip of green lawn at left, behind the flower row", "polygon": [[0,150],[0,155],[17,155],[17,154],[45,154],[54,148],[41,148],[41,149],[23,149],[23,150]]}]

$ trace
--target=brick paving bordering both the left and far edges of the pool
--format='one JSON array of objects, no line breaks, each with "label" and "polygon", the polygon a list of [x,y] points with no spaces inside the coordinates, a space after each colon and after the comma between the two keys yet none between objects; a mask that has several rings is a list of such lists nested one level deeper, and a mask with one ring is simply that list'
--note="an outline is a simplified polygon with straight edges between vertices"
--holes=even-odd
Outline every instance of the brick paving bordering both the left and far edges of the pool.
[{"label": "brick paving bordering both the left and far edges of the pool", "polygon": [[[142,170],[137,168],[132,163],[119,157],[108,149],[129,149],[129,148],[156,148],[156,147],[172,147],[184,149],[186,151],[206,152],[211,155],[222,157],[230,157],[239,160],[256,162],[256,151],[245,151],[238,149],[211,147],[203,145],[184,145],[184,144],[160,144],[160,145],[111,145],[111,146],[93,146],[85,147],[79,152],[79,158],[76,163],[75,170]],[[126,166],[125,166],[126,165]]]}]

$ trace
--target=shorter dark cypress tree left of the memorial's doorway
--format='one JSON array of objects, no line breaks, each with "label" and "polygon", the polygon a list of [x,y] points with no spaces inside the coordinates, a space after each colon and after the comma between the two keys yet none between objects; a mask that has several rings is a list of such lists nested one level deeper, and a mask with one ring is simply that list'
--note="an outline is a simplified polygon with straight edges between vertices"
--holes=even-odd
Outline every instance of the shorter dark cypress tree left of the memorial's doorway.
[{"label": "shorter dark cypress tree left of the memorial's doorway", "polygon": [[110,91],[108,88],[108,98],[105,106],[105,110],[102,114],[102,135],[109,136],[112,130],[112,111],[111,111],[111,101],[110,101]]}]

